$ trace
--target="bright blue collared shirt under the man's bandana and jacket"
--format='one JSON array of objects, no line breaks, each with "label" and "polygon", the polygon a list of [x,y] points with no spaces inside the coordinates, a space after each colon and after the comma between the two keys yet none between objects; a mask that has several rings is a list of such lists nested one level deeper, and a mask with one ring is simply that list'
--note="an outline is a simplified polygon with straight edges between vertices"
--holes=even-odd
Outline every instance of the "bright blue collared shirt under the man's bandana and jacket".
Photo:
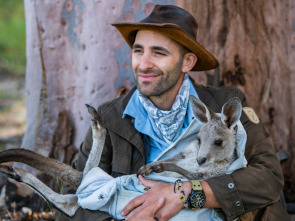
[{"label": "bright blue collared shirt under the man's bandana and jacket", "polygon": [[[134,127],[137,131],[144,134],[143,136],[143,142],[144,142],[144,148],[146,153],[146,164],[154,161],[164,150],[167,149],[167,147],[170,145],[163,139],[159,138],[156,132],[153,130],[152,123],[150,121],[150,118],[148,117],[147,111],[142,106],[141,102],[138,98],[138,90],[136,90],[130,101],[128,102],[125,111],[123,113],[123,118],[126,115],[129,115],[134,119]],[[190,81],[190,95],[194,95],[196,98],[198,97],[198,94]],[[175,140],[177,140],[181,134],[185,131],[185,129],[188,127],[188,125],[192,122],[194,116],[190,108],[190,104],[188,103],[187,112],[185,115],[183,127],[180,131],[180,134],[178,137],[176,137]]]}]

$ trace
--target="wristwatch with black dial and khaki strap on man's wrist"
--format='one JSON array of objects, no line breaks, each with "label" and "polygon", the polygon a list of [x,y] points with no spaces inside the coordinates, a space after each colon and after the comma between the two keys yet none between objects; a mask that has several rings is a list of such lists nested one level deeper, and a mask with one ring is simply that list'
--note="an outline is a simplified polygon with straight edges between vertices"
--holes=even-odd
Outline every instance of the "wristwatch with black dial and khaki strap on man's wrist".
[{"label": "wristwatch with black dial and khaki strap on man's wrist", "polygon": [[201,209],[206,202],[205,193],[198,180],[190,180],[190,183],[192,184],[192,192],[187,198],[188,208]]}]

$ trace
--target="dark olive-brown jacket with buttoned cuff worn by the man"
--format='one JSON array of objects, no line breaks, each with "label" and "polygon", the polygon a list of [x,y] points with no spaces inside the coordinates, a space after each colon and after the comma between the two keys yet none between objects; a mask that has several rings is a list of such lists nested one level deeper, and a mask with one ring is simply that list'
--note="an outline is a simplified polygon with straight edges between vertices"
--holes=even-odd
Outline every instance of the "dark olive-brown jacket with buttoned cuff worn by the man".
[{"label": "dark olive-brown jacket with buttoned cuff worn by the man", "polygon": [[[215,112],[220,113],[223,104],[232,97],[238,97],[243,107],[248,106],[244,94],[236,88],[201,85],[195,88],[200,100]],[[101,123],[107,129],[99,166],[114,177],[134,174],[145,164],[141,134],[135,130],[131,117],[122,119],[134,90],[98,108]],[[244,112],[241,122],[248,136],[245,151],[248,166],[232,174],[207,180],[222,207],[219,209],[220,215],[227,220],[243,214],[241,220],[254,220],[255,216],[255,220],[288,220],[286,212],[278,203],[284,181],[272,140],[262,123],[252,123]],[[78,170],[83,170],[91,145],[92,134],[89,129],[80,147],[78,160],[73,165]],[[58,215],[58,220],[104,220],[108,217],[106,213],[80,208],[73,218]]]}]

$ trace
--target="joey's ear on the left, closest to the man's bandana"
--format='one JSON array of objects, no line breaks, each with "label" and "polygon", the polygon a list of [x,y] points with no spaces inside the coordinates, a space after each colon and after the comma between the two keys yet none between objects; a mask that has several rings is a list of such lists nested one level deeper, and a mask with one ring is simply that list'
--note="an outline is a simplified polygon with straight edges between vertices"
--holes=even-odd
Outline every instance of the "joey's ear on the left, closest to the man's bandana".
[{"label": "joey's ear on the left, closest to the man's bandana", "polygon": [[213,118],[218,118],[211,108],[207,107],[202,101],[200,101],[195,96],[190,95],[189,102],[194,116],[201,123],[207,123]]}]

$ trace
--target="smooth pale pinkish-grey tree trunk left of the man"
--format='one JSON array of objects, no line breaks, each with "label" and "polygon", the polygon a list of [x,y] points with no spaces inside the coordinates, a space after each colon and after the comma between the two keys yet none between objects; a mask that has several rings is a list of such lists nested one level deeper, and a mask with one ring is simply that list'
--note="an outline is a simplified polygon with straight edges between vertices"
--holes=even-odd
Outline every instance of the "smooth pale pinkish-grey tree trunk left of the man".
[{"label": "smooth pale pinkish-grey tree trunk left of the man", "polygon": [[[64,161],[65,147],[72,144],[72,154],[90,125],[84,104],[98,106],[115,97],[119,72],[114,51],[122,41],[106,24],[118,19],[123,6],[123,1],[25,1],[27,128],[22,147],[56,156],[56,139],[65,136],[60,138],[66,140],[64,151],[58,150]],[[62,131],[65,119],[68,126]]]}]

